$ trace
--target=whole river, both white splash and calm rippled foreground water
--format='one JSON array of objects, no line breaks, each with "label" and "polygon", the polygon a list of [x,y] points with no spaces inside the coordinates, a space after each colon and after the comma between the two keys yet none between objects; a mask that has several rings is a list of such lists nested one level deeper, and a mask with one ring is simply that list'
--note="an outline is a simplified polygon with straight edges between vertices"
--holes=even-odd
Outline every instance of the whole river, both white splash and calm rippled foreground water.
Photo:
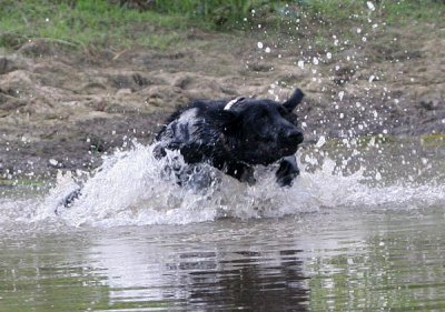
[{"label": "whole river, both white splash and calm rippled foreground water", "polygon": [[320,140],[288,189],[208,167],[178,187],[136,144],[0,189],[0,311],[443,311],[444,155],[443,138]]}]

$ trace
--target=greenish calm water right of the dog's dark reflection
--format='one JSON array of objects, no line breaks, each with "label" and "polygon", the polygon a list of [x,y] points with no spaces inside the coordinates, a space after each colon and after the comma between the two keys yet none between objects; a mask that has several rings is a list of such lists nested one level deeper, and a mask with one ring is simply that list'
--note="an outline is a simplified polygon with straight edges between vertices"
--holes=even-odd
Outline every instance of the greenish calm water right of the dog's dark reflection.
[{"label": "greenish calm water right of the dog's dark reflection", "polygon": [[[376,211],[308,263],[315,310],[442,311],[445,309],[444,207]],[[362,223],[362,222],[360,222]],[[326,233],[328,236],[332,233]],[[355,236],[356,238],[356,236]]]}]

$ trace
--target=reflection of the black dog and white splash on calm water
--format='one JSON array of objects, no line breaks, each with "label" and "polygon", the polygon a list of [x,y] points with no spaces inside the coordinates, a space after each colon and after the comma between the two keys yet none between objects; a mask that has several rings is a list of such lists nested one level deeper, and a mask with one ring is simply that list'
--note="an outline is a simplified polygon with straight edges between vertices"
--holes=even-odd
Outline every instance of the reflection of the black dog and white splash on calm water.
[{"label": "reflection of the black dog and white splash on calm water", "polygon": [[220,221],[162,234],[146,229],[121,248],[101,241],[91,254],[106,269],[113,304],[139,298],[191,311],[305,310],[299,251],[293,243],[274,246],[259,232],[264,225]]}]

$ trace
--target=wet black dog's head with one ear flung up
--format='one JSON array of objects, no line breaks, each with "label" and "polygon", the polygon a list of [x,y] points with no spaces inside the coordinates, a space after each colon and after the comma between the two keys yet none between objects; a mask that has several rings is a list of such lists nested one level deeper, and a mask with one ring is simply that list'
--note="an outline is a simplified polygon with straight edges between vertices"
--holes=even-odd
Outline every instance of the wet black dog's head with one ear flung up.
[{"label": "wet black dog's head with one ear flung up", "polygon": [[269,164],[294,154],[304,138],[291,114],[303,98],[301,90],[296,89],[284,103],[246,98],[228,102],[224,135],[236,158],[250,164]]}]

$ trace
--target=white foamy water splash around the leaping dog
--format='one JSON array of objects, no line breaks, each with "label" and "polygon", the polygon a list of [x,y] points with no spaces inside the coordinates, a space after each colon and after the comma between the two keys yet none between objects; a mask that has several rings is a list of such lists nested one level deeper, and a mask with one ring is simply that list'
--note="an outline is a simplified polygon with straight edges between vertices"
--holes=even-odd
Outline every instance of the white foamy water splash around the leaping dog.
[{"label": "white foamy water splash around the leaping dog", "polygon": [[[445,202],[443,183],[407,185],[396,180],[389,185],[373,187],[368,182],[379,180],[376,179],[379,172],[369,178],[364,165],[345,174],[338,170],[337,161],[325,157],[317,170],[309,170],[319,162],[315,152],[298,157],[305,164],[291,188],[279,188],[270,168],[258,168],[257,183],[247,185],[207,164],[194,167],[187,173],[189,183],[180,187],[175,172],[168,170],[185,164],[178,152],[156,160],[152,147],[135,143],[130,151],[105,159],[82,182],[70,173],[59,174],[55,188],[46,195],[0,200],[0,223],[106,228],[187,224],[221,218],[280,218],[320,208],[417,209]],[[202,181],[207,187],[196,188]],[[72,207],[60,207],[60,200],[80,184],[81,197]]]}]

